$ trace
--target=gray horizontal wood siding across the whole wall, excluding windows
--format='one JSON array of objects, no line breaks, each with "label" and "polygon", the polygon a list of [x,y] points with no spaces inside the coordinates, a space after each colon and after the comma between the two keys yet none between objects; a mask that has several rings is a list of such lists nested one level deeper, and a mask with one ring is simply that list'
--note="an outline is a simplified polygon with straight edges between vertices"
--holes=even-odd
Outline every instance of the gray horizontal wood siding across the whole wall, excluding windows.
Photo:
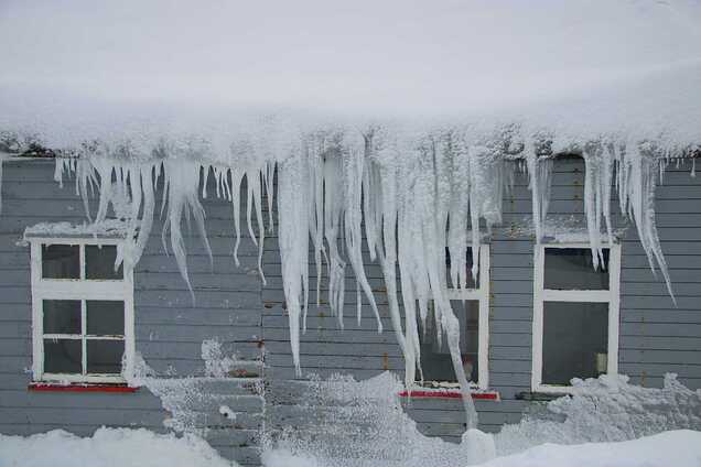
[{"label": "gray horizontal wood siding across the whole wall, excluding windows", "polygon": [[[583,172],[576,160],[559,160],[553,176],[553,215],[582,216]],[[145,389],[133,394],[36,393],[26,390],[31,367],[31,307],[29,249],[18,246],[26,226],[40,221],[82,222],[83,204],[72,182],[64,188],[53,182],[53,162],[6,162],[0,216],[0,432],[29,434],[63,427],[89,434],[100,425],[147,426],[162,431],[170,416],[161,401]],[[679,373],[692,389],[701,388],[701,180],[688,170],[670,169],[658,188],[657,224],[677,293],[675,307],[664,283],[647,264],[634,228],[623,239],[621,283],[621,371],[634,382],[659,385],[665,372]],[[186,238],[188,268],[196,294],[190,294],[175,262],[161,247],[157,221],[151,242],[134,275],[137,349],[159,371],[179,376],[203,372],[202,340],[218,337],[245,358],[257,358],[265,346],[267,428],[299,425],[303,412],[293,405],[304,392],[295,380],[289,344],[288,317],[280,273],[278,241],[266,239],[263,287],[256,272],[257,249],[244,236],[239,250],[241,268],[230,252],[234,245],[228,203],[207,199],[207,231],[214,264],[196,237]],[[490,243],[489,381],[502,400],[477,401],[481,427],[496,431],[516,422],[530,403],[517,399],[530,390],[533,240],[517,237],[511,227],[530,216],[527,178],[519,174],[505,198],[504,228]],[[617,213],[617,206],[613,206]],[[616,215],[616,225],[623,225]],[[301,358],[305,378],[349,373],[365,379],[382,371],[401,373],[403,362],[389,322],[387,296],[380,269],[369,263],[366,272],[379,305],[386,332],[378,334],[376,321],[363,298],[363,318],[356,322],[356,284],[349,268],[346,279],[345,330],[339,330],[326,301],[309,311],[308,332],[302,336]],[[311,285],[316,271],[310,258]],[[324,271],[325,278],[325,271]],[[312,293],[312,302],[315,294]],[[236,395],[240,388],[209,388],[213,394]],[[292,392],[290,392],[292,391]],[[240,402],[240,400],[238,400]],[[231,400],[230,404],[236,404]],[[240,402],[241,406],[248,406]],[[235,409],[234,406],[231,406]],[[209,426],[209,441],[223,454],[256,463],[255,449],[261,419],[241,419],[239,426],[224,421],[216,404],[195,408],[202,425]],[[249,410],[246,409],[246,410]],[[236,410],[236,409],[235,409]],[[262,410],[260,408],[259,410]],[[414,399],[407,412],[429,435],[457,441],[464,431],[461,405],[454,400]]]}]

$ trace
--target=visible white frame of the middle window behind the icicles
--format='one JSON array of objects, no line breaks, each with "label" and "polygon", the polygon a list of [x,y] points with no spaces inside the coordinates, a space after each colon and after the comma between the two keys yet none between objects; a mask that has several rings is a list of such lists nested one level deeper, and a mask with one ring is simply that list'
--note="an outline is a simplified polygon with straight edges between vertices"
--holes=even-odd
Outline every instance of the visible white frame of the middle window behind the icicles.
[{"label": "visible white frame of the middle window behind the icicles", "polygon": [[[472,247],[470,247],[472,248]],[[474,256],[473,256],[474,258]],[[489,389],[489,243],[479,245],[479,287],[445,289],[450,301],[474,301],[479,303],[477,318],[477,388]],[[429,381],[427,381],[429,382]],[[435,381],[438,383],[442,381]]]}]

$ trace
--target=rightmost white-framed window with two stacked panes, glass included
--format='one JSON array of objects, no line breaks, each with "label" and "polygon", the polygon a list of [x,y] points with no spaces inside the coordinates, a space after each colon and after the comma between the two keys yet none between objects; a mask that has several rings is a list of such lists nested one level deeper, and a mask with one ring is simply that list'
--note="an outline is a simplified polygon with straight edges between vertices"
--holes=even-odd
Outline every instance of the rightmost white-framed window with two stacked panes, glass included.
[{"label": "rightmost white-framed window with two stacked panes, glass included", "polygon": [[621,246],[594,270],[586,243],[536,246],[533,391],[567,392],[572,378],[618,371]]}]

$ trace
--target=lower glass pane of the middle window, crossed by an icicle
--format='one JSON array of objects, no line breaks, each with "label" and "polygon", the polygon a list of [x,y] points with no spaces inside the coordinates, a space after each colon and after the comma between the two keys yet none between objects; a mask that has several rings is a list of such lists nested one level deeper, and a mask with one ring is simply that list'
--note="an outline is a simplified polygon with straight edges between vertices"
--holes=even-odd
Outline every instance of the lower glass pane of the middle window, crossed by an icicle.
[{"label": "lower glass pane of the middle window, crossed by an icicle", "polygon": [[[479,324],[478,301],[451,301],[453,313],[460,322],[460,350],[467,380],[477,382],[477,344]],[[421,368],[425,381],[457,381],[445,336],[441,344],[435,334],[434,315],[427,318],[425,332],[421,327]]]}]

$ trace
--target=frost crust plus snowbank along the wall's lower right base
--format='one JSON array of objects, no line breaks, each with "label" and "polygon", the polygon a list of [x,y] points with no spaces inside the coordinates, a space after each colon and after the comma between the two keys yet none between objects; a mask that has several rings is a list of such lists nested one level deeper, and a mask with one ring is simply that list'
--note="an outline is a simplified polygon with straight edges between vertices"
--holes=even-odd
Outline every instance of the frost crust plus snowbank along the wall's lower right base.
[{"label": "frost crust plus snowbank along the wall's lower right base", "polygon": [[573,383],[572,397],[531,410],[520,423],[497,434],[467,430],[454,444],[419,433],[391,373],[360,382],[333,377],[311,384],[299,408],[303,425],[269,438],[262,460],[267,467],[698,465],[701,391],[675,374],[661,389],[629,384],[624,376]]}]

